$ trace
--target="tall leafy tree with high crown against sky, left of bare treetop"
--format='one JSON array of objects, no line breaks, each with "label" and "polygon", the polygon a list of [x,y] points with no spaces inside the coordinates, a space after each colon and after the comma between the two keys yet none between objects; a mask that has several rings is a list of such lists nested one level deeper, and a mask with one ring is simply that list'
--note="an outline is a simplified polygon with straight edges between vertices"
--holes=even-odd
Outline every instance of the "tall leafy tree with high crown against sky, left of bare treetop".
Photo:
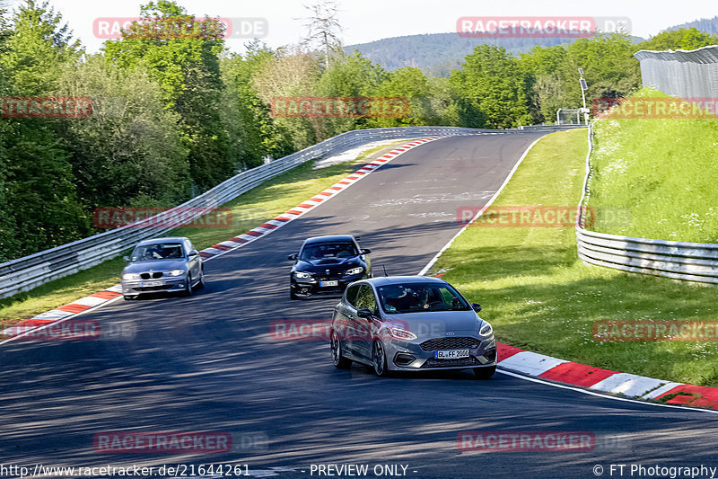
[{"label": "tall leafy tree with high crown against sky, left of bare treetop", "polygon": [[[107,41],[105,56],[122,68],[144,65],[160,84],[165,107],[180,115],[191,177],[200,189],[206,190],[231,176],[241,164],[240,151],[232,144],[220,113],[222,35],[171,34],[171,28],[163,27],[188,25],[197,29],[194,17],[171,1],[150,2],[142,6],[141,14],[153,19],[150,26],[136,22],[123,32],[122,40]],[[211,19],[202,22],[215,24],[206,31],[222,31]],[[163,33],[155,35],[152,28],[163,28]]]}]

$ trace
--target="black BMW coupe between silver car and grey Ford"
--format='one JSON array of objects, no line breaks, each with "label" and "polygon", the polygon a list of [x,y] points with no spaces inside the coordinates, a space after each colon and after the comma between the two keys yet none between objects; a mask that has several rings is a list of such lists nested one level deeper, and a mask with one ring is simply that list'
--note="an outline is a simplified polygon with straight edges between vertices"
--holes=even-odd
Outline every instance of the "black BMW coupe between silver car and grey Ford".
[{"label": "black BMW coupe between silver car and grey Ford", "polygon": [[292,299],[341,296],[346,285],[371,278],[368,249],[352,235],[316,236],[304,240],[299,253],[291,254],[289,294]]}]

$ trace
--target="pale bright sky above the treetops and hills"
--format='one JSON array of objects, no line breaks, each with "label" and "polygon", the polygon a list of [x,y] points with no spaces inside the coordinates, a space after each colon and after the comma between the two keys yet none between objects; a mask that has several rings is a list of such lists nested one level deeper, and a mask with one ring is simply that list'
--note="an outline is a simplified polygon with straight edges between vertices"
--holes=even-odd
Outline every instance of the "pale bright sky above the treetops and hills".
[{"label": "pale bright sky above the treetops and hills", "polygon": [[[10,0],[9,6],[21,0]],[[262,18],[268,24],[267,35],[262,39],[270,47],[296,44],[306,34],[302,20],[308,16],[305,4],[316,0],[178,0],[188,13],[203,17]],[[56,11],[82,40],[88,52],[98,51],[104,40],[93,32],[98,18],[133,17],[139,14],[139,5],[147,0],[49,0]],[[628,17],[631,33],[648,38],[661,30],[682,22],[699,18],[712,18],[718,14],[715,0],[682,0],[679,8],[675,1],[626,0],[338,0],[338,20],[343,27],[344,45],[365,43],[390,37],[418,33],[445,33],[456,31],[456,21],[463,16],[600,16]],[[229,39],[226,46],[242,52],[248,40]]]}]

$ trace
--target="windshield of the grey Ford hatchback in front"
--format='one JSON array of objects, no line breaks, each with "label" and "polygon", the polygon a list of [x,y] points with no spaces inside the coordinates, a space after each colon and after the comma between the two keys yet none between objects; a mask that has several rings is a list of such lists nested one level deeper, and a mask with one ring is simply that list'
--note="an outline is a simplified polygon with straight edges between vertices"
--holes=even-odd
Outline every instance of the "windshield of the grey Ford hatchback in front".
[{"label": "windshield of the grey Ford hatchback in front", "polygon": [[381,286],[381,307],[388,314],[423,311],[468,311],[466,300],[446,284],[408,283]]}]

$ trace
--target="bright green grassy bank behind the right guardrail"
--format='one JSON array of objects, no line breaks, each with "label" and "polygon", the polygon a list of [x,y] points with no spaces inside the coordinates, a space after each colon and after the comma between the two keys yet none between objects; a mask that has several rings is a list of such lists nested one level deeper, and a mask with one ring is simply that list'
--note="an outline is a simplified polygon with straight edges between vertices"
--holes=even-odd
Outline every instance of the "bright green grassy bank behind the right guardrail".
[{"label": "bright green grassy bank behind the right guardrail", "polygon": [[[665,97],[644,89],[637,97]],[[718,118],[595,121],[589,229],[661,240],[718,241]],[[624,213],[621,213],[623,211]],[[602,214],[605,212],[605,214]]]}]

